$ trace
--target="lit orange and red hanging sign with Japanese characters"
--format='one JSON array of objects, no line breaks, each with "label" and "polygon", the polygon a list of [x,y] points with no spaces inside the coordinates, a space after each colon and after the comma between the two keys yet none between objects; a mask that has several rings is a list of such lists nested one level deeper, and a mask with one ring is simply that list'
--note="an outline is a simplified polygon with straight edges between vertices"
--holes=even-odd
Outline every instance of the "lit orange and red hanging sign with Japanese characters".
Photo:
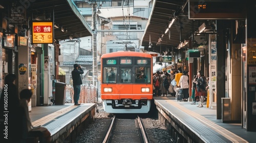
[{"label": "lit orange and red hanging sign with Japanese characters", "polygon": [[53,43],[53,22],[33,21],[32,22],[32,43],[50,44]]}]

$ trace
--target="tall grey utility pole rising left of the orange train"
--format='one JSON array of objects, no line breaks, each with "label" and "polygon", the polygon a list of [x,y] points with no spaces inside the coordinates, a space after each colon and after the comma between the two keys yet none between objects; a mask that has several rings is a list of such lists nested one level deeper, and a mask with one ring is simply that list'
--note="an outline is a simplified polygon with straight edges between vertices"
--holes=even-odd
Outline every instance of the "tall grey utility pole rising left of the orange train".
[{"label": "tall grey utility pole rising left of the orange train", "polygon": [[98,79],[98,63],[97,63],[97,13],[96,13],[96,3],[92,5],[92,18],[93,18],[93,86],[97,86]]}]

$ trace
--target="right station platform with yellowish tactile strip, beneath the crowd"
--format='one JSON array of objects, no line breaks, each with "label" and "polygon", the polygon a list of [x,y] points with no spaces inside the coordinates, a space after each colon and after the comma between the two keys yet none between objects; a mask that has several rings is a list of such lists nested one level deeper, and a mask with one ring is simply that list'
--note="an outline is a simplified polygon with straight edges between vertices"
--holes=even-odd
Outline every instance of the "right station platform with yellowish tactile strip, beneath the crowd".
[{"label": "right station platform with yellowish tactile strip, beneath the crowd", "polygon": [[[248,132],[241,124],[217,120],[216,109],[198,108],[190,102],[179,102],[175,97],[154,97],[160,112],[165,112],[172,125],[190,132],[190,138],[203,142],[255,142],[256,132]],[[194,136],[193,136],[194,135]],[[186,135],[185,135],[186,136]],[[188,138],[189,138],[188,137]],[[186,137],[185,137],[186,138]]]}]

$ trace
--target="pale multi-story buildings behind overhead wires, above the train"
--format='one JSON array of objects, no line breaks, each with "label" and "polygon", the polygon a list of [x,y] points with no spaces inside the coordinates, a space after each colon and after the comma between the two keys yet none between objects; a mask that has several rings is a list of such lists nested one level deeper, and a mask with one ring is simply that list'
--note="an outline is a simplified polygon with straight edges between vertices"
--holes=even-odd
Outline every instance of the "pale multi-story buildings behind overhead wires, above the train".
[{"label": "pale multi-story buildings behind overhead wires, above the train", "polygon": [[[94,2],[74,1],[80,13],[92,26]],[[119,50],[140,51],[141,37],[152,10],[152,1],[97,2],[97,53]],[[90,40],[91,37],[88,37]]]}]

